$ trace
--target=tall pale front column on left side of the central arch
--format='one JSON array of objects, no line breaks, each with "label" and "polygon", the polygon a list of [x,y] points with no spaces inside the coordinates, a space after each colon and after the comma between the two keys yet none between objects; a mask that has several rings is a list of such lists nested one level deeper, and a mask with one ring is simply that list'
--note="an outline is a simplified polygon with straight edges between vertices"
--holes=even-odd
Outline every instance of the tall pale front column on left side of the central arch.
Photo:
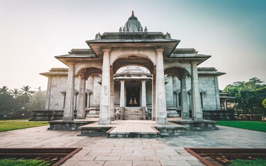
[{"label": "tall pale front column on left side of the central arch", "polygon": [[102,87],[100,92],[99,124],[111,124],[110,62],[109,62],[110,51],[111,48],[103,48],[103,73],[102,73]]}]

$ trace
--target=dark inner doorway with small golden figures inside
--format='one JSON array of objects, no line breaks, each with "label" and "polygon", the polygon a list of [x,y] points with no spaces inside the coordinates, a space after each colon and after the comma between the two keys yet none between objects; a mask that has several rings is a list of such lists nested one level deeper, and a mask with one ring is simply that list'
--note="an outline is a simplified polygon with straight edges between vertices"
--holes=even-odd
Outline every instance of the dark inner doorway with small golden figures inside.
[{"label": "dark inner doorway with small golden figures inside", "polygon": [[141,104],[140,102],[140,95],[139,95],[140,88],[139,87],[128,87],[127,88],[127,107],[139,107]]}]

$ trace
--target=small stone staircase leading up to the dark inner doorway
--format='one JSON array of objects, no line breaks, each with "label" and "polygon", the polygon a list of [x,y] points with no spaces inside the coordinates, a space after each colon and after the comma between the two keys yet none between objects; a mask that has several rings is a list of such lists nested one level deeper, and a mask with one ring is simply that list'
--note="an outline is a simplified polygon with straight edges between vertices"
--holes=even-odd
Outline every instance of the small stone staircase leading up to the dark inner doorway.
[{"label": "small stone staircase leading up to the dark inner doorway", "polygon": [[143,120],[141,107],[125,107],[123,120]]}]

